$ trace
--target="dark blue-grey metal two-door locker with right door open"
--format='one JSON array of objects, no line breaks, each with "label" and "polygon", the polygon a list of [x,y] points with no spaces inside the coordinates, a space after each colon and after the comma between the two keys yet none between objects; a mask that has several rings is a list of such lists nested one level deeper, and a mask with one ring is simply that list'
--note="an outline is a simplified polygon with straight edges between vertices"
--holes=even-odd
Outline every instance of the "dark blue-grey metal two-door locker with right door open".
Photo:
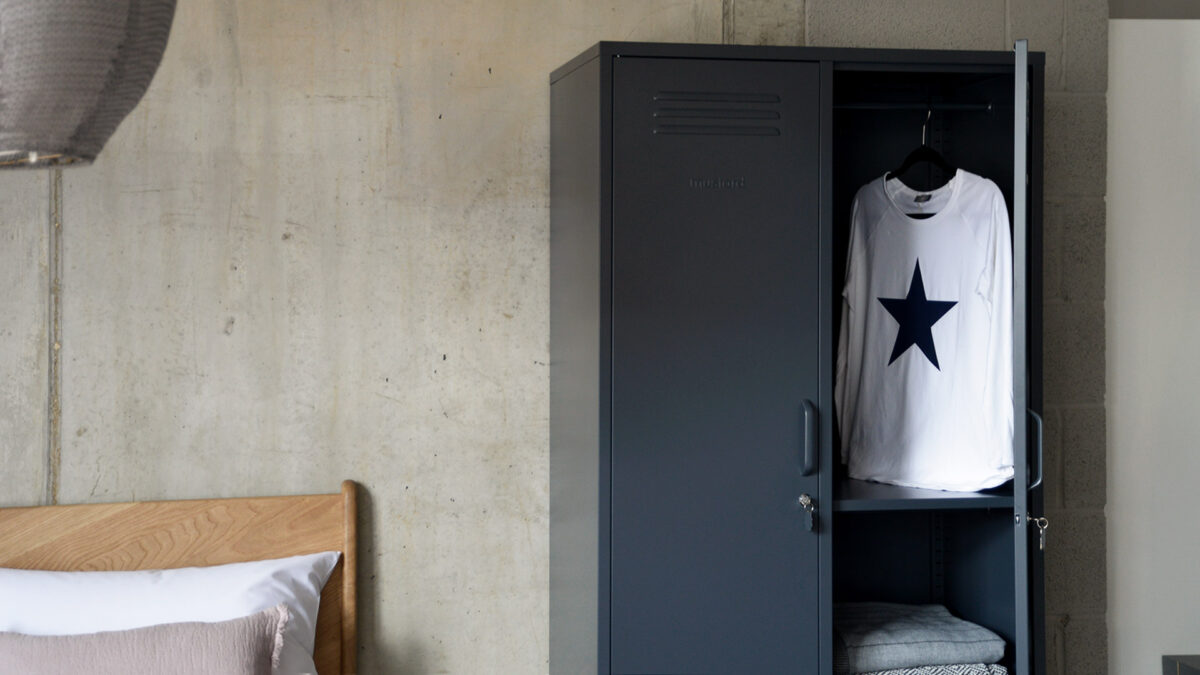
[{"label": "dark blue-grey metal two-door locker with right door open", "polygon": [[832,431],[850,199],[923,118],[1015,208],[1016,419],[1040,408],[1022,47],[600,43],[552,74],[552,673],[829,674],[833,603],[865,598],[947,604],[1042,673],[1037,434],[955,494],[846,479]]}]

